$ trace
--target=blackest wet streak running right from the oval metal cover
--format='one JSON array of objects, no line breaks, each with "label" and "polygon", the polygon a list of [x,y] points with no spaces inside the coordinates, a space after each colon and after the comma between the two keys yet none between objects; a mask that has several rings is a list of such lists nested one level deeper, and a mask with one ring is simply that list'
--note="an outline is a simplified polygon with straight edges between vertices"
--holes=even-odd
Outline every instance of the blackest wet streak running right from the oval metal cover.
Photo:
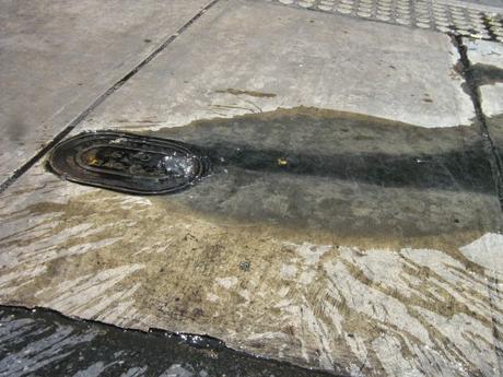
[{"label": "blackest wet streak running right from the oval metal cover", "polygon": [[[319,138],[329,136],[326,129],[316,132]],[[374,136],[355,136],[353,142],[359,141],[381,142]],[[210,141],[206,152],[220,173],[227,167],[320,179],[356,180],[378,187],[463,189],[486,193],[493,192],[494,188],[482,143],[477,140],[464,145],[464,149],[438,153],[410,151],[400,155],[387,153],[378,146],[358,153],[339,152],[336,148],[330,153],[299,146],[278,144],[271,149],[257,149],[250,148],[246,141],[239,143],[237,140],[222,140],[214,143]]]}]

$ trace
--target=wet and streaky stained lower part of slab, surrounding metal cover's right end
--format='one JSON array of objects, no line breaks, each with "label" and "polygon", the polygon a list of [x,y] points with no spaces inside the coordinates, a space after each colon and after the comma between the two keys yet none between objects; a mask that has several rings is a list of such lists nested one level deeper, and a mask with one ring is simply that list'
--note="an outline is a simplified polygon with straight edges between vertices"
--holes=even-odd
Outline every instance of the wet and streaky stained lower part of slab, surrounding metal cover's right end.
[{"label": "wet and streaky stained lower part of slab, surrounding metal cover's right end", "polygon": [[352,376],[498,375],[501,212],[475,128],[299,108],[155,136],[213,174],[142,198],[40,166],[3,195],[2,303]]}]

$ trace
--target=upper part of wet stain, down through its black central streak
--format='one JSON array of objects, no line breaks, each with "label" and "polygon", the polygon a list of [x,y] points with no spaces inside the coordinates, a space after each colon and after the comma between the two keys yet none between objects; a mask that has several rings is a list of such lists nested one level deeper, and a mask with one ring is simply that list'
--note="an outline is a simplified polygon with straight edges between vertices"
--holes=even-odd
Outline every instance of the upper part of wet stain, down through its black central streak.
[{"label": "upper part of wet stain, down through its black central streak", "polygon": [[282,110],[278,117],[198,121],[151,134],[206,151],[219,173],[239,168],[378,187],[494,192],[483,143],[467,127],[426,129],[301,108]]}]

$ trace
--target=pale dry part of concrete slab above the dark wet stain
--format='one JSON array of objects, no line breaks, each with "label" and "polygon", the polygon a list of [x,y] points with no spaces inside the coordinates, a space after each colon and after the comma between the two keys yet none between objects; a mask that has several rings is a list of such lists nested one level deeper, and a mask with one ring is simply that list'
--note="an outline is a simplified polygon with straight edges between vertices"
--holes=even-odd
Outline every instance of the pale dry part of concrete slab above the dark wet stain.
[{"label": "pale dry part of concrete slab above the dark wet stain", "polygon": [[422,127],[473,117],[446,35],[256,1],[221,9],[82,128],[152,129],[301,105]]}]

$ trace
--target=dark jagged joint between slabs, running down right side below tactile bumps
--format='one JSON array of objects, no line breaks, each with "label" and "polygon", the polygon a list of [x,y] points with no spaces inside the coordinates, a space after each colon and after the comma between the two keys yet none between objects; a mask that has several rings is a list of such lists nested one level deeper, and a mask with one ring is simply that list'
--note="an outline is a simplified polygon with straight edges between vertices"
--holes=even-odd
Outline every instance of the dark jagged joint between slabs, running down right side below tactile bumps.
[{"label": "dark jagged joint between slabs, running down right side below tactile bumps", "polygon": [[459,61],[461,63],[463,71],[461,73],[466,81],[466,90],[473,104],[477,121],[480,126],[480,133],[484,142],[484,150],[488,155],[488,160],[491,164],[498,199],[500,200],[500,205],[503,210],[503,161],[500,154],[498,153],[494,140],[492,139],[491,133],[489,132],[486,115],[482,110],[480,90],[473,76],[471,62],[468,59],[467,47],[463,44],[461,36],[453,36],[453,42],[459,54]]}]

